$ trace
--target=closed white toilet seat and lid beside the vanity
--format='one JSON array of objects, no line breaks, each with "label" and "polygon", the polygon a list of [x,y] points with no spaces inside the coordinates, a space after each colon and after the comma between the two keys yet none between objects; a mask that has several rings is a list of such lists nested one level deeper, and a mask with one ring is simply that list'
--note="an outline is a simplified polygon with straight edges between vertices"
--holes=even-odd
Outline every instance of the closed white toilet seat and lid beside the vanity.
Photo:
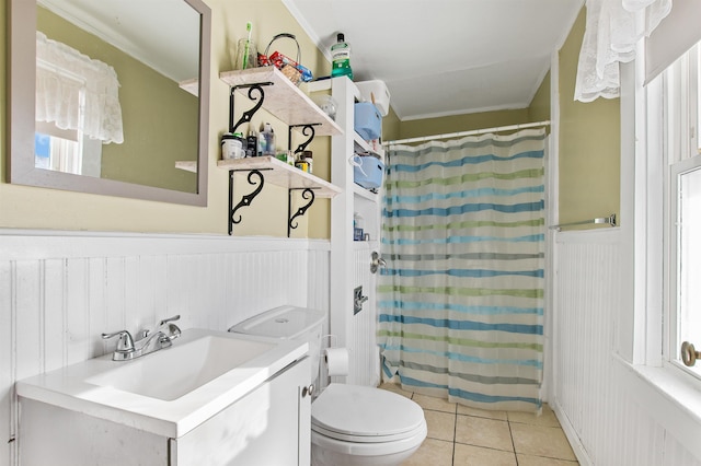
[{"label": "closed white toilet seat and lid beside the vanity", "polygon": [[311,411],[312,431],[342,442],[403,443],[426,435],[423,409],[379,388],[331,384],[312,403]]}]

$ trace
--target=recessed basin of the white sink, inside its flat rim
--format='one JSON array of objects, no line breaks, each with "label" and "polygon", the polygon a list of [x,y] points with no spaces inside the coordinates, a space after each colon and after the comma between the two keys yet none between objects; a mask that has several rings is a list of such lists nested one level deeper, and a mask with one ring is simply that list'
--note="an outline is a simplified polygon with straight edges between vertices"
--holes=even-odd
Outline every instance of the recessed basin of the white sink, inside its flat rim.
[{"label": "recessed basin of the white sink, inside its flat rim", "polygon": [[206,336],[133,361],[119,361],[119,368],[85,382],[170,401],[274,347],[268,342]]}]

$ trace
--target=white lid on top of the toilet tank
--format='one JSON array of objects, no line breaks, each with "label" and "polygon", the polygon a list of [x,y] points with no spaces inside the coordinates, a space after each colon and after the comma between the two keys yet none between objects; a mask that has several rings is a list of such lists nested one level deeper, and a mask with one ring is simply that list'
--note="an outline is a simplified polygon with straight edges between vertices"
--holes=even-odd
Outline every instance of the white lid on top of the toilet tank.
[{"label": "white lid on top of the toilet tank", "polygon": [[229,328],[235,334],[274,338],[300,338],[318,325],[326,314],[308,307],[279,306],[250,317]]}]

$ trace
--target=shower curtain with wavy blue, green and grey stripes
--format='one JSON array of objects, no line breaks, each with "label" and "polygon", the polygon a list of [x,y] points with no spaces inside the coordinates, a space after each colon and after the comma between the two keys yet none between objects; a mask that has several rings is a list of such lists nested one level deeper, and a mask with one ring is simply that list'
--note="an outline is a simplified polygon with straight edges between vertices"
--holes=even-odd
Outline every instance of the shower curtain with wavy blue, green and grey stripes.
[{"label": "shower curtain with wavy blue, green and grey stripes", "polygon": [[540,409],[544,147],[544,129],[390,145],[384,380],[482,409]]}]

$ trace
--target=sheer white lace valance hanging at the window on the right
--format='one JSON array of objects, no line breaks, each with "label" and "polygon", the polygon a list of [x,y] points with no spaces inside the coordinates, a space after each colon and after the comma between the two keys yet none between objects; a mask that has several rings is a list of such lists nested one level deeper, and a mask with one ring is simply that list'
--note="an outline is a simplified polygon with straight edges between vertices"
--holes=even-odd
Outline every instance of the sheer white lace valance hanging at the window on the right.
[{"label": "sheer white lace valance hanging at the window on the right", "polygon": [[574,98],[619,96],[619,63],[635,57],[635,45],[669,14],[671,0],[587,0]]}]

